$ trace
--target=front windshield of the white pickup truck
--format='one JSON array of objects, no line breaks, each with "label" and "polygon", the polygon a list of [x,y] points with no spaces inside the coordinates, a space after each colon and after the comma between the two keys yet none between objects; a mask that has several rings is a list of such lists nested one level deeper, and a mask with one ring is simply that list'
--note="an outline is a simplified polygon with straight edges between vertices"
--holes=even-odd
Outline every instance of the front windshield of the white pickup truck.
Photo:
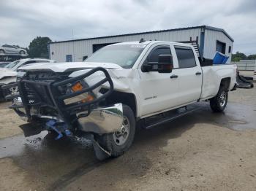
[{"label": "front windshield of the white pickup truck", "polygon": [[116,63],[124,69],[131,69],[146,45],[111,45],[95,52],[85,62]]}]

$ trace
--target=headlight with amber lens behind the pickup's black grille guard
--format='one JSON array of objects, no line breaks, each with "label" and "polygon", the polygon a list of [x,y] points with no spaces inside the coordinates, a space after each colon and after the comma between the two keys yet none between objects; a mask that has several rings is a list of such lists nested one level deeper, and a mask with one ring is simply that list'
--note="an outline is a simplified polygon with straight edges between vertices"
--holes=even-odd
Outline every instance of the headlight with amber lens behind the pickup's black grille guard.
[{"label": "headlight with amber lens behind the pickup's black grille guard", "polygon": [[[86,87],[88,87],[88,86],[85,84],[82,84],[82,82],[75,82],[75,84],[71,85],[68,88],[67,93],[75,93],[75,92],[85,89]],[[86,102],[93,101],[93,100],[94,100],[93,93],[86,92],[86,93],[82,93],[82,94],[77,95],[72,98],[67,98],[64,100],[64,103],[65,104],[73,104],[76,102],[86,103]]]}]

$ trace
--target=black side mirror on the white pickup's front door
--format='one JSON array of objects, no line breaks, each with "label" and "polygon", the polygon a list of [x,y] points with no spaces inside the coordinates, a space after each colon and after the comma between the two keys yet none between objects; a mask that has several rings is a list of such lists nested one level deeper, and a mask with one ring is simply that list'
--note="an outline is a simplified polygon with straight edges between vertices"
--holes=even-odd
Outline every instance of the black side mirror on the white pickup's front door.
[{"label": "black side mirror on the white pickup's front door", "polygon": [[170,73],[173,70],[173,56],[172,55],[159,55],[157,63],[143,64],[142,71],[158,71],[159,73]]}]

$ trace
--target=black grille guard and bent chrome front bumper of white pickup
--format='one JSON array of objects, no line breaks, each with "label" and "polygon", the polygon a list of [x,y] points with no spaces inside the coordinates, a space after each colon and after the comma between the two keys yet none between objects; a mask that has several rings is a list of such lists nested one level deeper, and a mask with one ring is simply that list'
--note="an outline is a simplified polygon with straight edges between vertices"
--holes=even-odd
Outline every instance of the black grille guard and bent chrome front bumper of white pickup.
[{"label": "black grille guard and bent chrome front bumper of white pickup", "polygon": [[[105,78],[99,80],[96,84],[91,85],[90,87],[85,87],[78,92],[66,95],[59,92],[59,87],[86,79],[86,77],[91,76],[91,74],[94,74],[97,71],[103,72]],[[97,96],[93,101],[65,104],[65,99],[75,98],[78,95],[94,90],[106,82],[109,84],[109,89],[105,91],[105,93],[102,93],[102,95]],[[72,130],[72,128],[76,126],[76,128],[83,132],[97,134],[113,133],[121,130],[123,122],[122,104],[99,106],[99,102],[107,98],[113,92],[113,82],[108,71],[103,68],[98,67],[96,69],[91,69],[86,72],[86,74],[65,79],[60,82],[35,82],[23,77],[17,84],[13,84],[12,86],[14,85],[18,86],[19,94],[10,95],[10,97],[12,97],[12,106],[10,106],[10,108],[14,109],[23,120],[28,122],[31,122],[34,119],[42,119],[46,121],[55,120],[56,122],[62,122],[67,125],[69,130]],[[37,97],[37,102],[31,101],[28,87],[29,91],[33,90],[33,96]],[[4,88],[9,88],[9,86]],[[40,105],[53,107],[58,112],[58,117],[34,112],[34,107]]]}]

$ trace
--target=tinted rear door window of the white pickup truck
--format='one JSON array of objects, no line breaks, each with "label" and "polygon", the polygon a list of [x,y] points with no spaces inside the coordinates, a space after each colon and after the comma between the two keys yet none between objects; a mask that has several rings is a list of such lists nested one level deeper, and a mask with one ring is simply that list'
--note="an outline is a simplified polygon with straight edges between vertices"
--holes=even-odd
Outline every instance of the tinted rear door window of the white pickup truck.
[{"label": "tinted rear door window of the white pickup truck", "polygon": [[197,66],[195,55],[191,47],[174,46],[178,58],[178,68],[192,68]]}]

